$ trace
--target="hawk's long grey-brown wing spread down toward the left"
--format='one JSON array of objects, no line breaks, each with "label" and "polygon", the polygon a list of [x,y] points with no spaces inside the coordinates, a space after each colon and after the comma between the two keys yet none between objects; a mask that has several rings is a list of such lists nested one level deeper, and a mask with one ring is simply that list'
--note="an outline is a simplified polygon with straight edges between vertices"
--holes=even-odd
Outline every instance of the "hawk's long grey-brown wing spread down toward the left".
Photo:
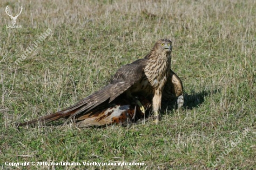
[{"label": "hawk's long grey-brown wing spread down toward the left", "polygon": [[148,59],[138,59],[131,64],[122,66],[117,70],[110,84],[87,98],[82,99],[77,104],[65,109],[63,113],[76,110],[74,114],[71,115],[73,117],[81,112],[84,113],[90,111],[108,99],[108,103],[110,103],[141,79],[144,67],[147,65],[147,61]]}]

